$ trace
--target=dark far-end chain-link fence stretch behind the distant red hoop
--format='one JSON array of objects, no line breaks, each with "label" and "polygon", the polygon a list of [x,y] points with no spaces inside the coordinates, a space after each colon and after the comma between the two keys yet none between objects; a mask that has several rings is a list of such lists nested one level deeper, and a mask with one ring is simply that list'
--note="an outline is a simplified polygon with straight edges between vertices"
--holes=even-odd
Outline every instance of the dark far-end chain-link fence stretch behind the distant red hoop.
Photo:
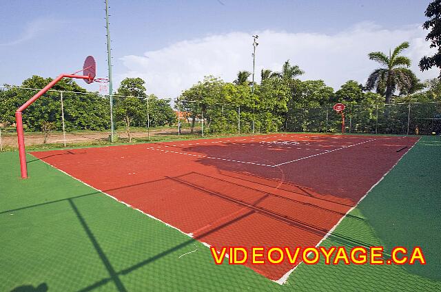
[{"label": "dark far-end chain-link fence stretch behind the distant red hoop", "polygon": [[[345,132],[366,134],[429,135],[441,132],[441,103],[347,105]],[[288,132],[341,132],[342,116],[332,107],[292,110]]]}]

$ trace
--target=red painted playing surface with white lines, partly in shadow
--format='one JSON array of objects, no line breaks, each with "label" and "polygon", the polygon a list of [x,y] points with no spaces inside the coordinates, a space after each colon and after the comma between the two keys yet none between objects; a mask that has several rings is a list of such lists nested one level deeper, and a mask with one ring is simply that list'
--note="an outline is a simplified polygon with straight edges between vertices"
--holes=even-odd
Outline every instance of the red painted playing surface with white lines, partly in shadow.
[{"label": "red painted playing surface with white lines, partly in shadow", "polygon": [[[415,137],[271,134],[32,155],[214,247],[311,247]],[[247,264],[283,282],[298,264]]]}]

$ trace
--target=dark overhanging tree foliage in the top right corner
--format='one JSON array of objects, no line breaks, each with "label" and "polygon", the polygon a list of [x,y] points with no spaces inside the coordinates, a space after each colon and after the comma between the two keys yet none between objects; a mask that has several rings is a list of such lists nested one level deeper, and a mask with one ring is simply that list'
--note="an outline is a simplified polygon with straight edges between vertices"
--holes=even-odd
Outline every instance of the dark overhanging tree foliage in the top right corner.
[{"label": "dark overhanging tree foliage in the top right corner", "polygon": [[[422,71],[429,70],[433,66],[441,69],[441,0],[429,3],[425,15],[429,17],[429,20],[424,22],[422,28],[424,30],[431,29],[431,32],[426,36],[426,41],[431,41],[430,48],[438,48],[438,52],[433,56],[423,56],[419,64],[420,69]],[[441,72],[438,78],[441,79]]]}]

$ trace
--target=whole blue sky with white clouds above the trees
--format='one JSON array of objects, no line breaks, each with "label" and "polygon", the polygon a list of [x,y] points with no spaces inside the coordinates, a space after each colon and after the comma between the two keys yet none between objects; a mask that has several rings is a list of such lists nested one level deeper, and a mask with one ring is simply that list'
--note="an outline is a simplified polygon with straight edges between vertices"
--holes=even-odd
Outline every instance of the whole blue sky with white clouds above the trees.
[{"label": "whole blue sky with white clouds above the trees", "polygon": [[[321,79],[334,90],[348,80],[365,83],[378,65],[369,52],[389,53],[403,41],[411,70],[433,54],[425,41],[425,0],[109,0],[114,88],[141,77],[147,94],[176,98],[204,76],[226,82],[238,71],[252,72],[252,35],[258,34],[256,81],[260,70],[299,65],[302,80]],[[36,74],[58,76],[96,59],[96,77],[107,78],[104,0],[2,0],[0,83],[20,85]],[[82,87],[105,92],[99,84]]]}]

